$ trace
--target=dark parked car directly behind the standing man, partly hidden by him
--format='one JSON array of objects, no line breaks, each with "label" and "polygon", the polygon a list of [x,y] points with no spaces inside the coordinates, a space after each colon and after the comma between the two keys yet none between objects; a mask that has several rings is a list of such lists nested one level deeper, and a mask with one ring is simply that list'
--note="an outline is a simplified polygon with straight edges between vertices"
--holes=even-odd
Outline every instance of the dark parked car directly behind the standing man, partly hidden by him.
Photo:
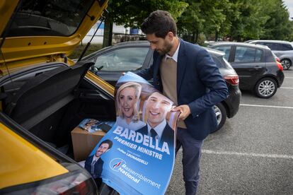
[{"label": "dark parked car directly behind the standing man, partly hidden by him", "polygon": [[[223,52],[208,48],[207,51],[212,55],[229,88],[229,97],[214,107],[218,129],[221,129],[226,117],[234,117],[239,110],[241,99],[239,76],[223,58]],[[153,62],[153,53],[154,51],[150,49],[147,41],[122,42],[93,52],[84,57],[84,60],[93,61],[95,65],[91,67],[91,71],[108,83],[115,85],[123,72],[135,73],[149,68]]]}]

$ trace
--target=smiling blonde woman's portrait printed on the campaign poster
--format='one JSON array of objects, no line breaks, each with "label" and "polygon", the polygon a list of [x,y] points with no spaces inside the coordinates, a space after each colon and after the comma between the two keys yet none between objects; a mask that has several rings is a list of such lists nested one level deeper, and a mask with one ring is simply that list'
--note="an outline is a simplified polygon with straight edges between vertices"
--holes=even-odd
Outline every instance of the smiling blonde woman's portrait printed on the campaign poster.
[{"label": "smiling blonde woman's portrait printed on the campaign poster", "polygon": [[128,82],[120,86],[116,94],[117,119],[116,124],[136,131],[146,125],[139,120],[138,100],[142,85]]}]

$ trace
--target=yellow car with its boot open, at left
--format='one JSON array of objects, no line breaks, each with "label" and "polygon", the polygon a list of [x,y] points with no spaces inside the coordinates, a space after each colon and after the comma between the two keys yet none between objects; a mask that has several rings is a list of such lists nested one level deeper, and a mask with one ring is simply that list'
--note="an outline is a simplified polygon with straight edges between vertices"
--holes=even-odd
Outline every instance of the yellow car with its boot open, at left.
[{"label": "yellow car with its boot open, at left", "polygon": [[71,130],[115,119],[113,87],[67,56],[108,1],[0,1],[0,194],[97,194]]}]

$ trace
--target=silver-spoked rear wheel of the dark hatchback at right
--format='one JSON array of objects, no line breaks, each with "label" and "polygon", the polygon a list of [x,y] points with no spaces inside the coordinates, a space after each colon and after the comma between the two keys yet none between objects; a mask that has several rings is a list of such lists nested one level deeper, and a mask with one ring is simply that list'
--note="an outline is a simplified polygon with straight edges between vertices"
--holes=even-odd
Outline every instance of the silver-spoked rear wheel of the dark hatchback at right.
[{"label": "silver-spoked rear wheel of the dark hatchback at right", "polygon": [[277,83],[273,78],[262,78],[256,83],[254,90],[259,98],[270,98],[277,92]]}]

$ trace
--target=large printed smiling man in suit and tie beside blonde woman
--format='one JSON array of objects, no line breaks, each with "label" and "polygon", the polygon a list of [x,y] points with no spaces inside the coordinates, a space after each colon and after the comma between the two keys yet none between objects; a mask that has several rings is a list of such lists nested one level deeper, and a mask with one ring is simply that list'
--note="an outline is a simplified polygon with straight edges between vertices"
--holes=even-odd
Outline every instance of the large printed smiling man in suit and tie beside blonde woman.
[{"label": "large printed smiling man in suit and tie beside blonde woman", "polygon": [[[173,102],[161,95],[161,93],[154,92],[149,95],[146,100],[146,126],[137,132],[148,135],[154,139],[159,140],[159,146],[163,142],[168,143],[169,149],[174,147],[174,131],[166,122],[166,115],[171,110]],[[154,141],[153,141],[154,143]]]}]

